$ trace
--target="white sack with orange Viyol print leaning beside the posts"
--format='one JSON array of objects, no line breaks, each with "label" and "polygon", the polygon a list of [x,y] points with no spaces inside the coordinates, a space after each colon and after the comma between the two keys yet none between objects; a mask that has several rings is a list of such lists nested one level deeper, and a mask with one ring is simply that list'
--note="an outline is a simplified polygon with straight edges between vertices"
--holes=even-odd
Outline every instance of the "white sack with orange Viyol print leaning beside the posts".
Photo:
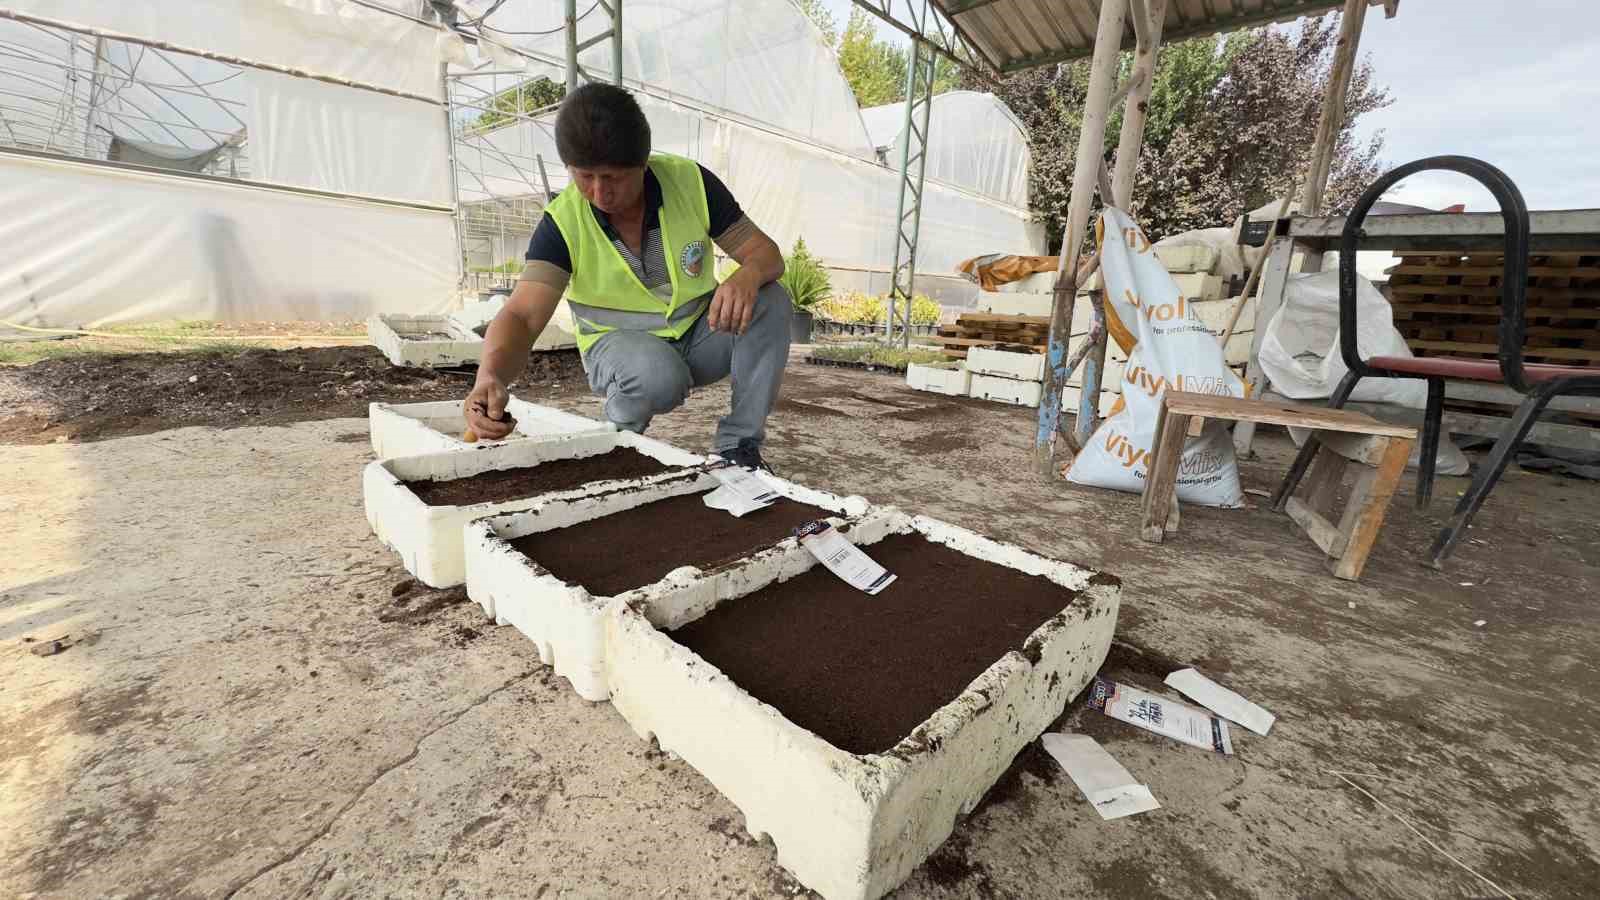
[{"label": "white sack with orange Viyol print leaning beside the posts", "polygon": [[[1166,388],[1243,397],[1245,383],[1224,362],[1216,336],[1178,295],[1173,277],[1128,213],[1107,208],[1098,239],[1107,327],[1110,338],[1128,351],[1128,362],[1122,399],[1072,461],[1067,480],[1139,493]],[[1227,423],[1208,421],[1198,437],[1184,444],[1178,500],[1243,506]]]}]

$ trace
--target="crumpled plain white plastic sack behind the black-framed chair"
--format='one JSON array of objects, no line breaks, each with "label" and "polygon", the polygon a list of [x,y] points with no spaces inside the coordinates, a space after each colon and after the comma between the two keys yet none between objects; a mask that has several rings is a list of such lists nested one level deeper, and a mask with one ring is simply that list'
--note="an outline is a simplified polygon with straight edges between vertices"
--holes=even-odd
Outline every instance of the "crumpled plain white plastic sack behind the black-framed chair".
[{"label": "crumpled plain white plastic sack behind the black-framed chair", "polygon": [[[1411,348],[1394,325],[1394,309],[1371,282],[1355,279],[1355,336],[1362,359],[1411,356]],[[1349,368],[1339,352],[1339,272],[1290,275],[1283,306],[1272,315],[1261,336],[1261,372],[1272,389],[1294,400],[1322,400]],[[1352,400],[1427,405],[1427,383],[1416,378],[1363,378]]]}]

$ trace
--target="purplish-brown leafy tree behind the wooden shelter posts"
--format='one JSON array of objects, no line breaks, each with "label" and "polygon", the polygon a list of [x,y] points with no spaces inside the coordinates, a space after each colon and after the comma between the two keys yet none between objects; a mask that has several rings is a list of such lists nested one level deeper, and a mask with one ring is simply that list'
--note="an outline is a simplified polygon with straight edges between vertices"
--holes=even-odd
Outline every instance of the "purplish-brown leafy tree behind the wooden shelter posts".
[{"label": "purplish-brown leafy tree behind the wooden shelter posts", "polygon": [[[1304,178],[1322,96],[1333,70],[1339,18],[1298,29],[1264,27],[1226,40],[1195,38],[1160,50],[1150,88],[1133,210],[1152,239],[1232,223]],[[1123,59],[1123,77],[1131,56]],[[1046,66],[998,82],[966,75],[1024,122],[1032,151],[1029,197],[1050,245],[1061,242],[1072,192],[1088,61]],[[1355,141],[1357,120],[1389,104],[1370,62],[1357,66],[1334,147],[1323,208],[1349,208],[1382,171],[1382,135]],[[1110,115],[1104,155],[1114,165],[1122,110]]]}]

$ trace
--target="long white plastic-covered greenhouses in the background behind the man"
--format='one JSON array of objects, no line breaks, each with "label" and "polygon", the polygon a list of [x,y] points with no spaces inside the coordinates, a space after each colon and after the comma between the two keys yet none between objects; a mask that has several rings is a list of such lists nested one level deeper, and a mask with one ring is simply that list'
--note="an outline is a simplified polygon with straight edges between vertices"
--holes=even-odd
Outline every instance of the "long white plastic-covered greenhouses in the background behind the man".
[{"label": "long white plastic-covered greenhouses in the background behind the man", "polygon": [[[349,320],[506,283],[568,183],[554,110],[504,114],[541,77],[558,96],[562,5],[458,2],[459,35],[435,6],[0,0],[0,202],[26,211],[0,219],[0,320]],[[608,27],[590,10],[578,38]],[[629,0],[622,34],[658,149],[853,272],[835,287],[886,290],[899,160],[790,0]],[[581,66],[610,80],[610,42]],[[933,115],[918,279],[1043,253],[1014,117],[970,93]]]}]

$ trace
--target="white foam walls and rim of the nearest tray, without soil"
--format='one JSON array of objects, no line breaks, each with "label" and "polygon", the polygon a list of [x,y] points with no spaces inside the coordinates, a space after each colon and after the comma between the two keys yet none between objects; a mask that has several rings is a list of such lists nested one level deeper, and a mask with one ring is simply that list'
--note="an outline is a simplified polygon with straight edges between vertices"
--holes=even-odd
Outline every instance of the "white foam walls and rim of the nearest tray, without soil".
[{"label": "white foam walls and rim of the nearest tray, without soil", "polygon": [[[835,748],[669,634],[718,604],[811,569],[808,551],[784,548],[723,572],[715,583],[606,610],[606,679],[616,711],[642,738],[654,737],[710,780],[744,814],[752,836],[771,836],[779,865],[827,900],[874,900],[922,865],[1090,682],[1117,623],[1115,578],[944,522],[885,508],[846,536],[866,546],[909,532],[1043,575],[1077,594],[888,753]],[[861,602],[872,597],[862,594]]]}]

